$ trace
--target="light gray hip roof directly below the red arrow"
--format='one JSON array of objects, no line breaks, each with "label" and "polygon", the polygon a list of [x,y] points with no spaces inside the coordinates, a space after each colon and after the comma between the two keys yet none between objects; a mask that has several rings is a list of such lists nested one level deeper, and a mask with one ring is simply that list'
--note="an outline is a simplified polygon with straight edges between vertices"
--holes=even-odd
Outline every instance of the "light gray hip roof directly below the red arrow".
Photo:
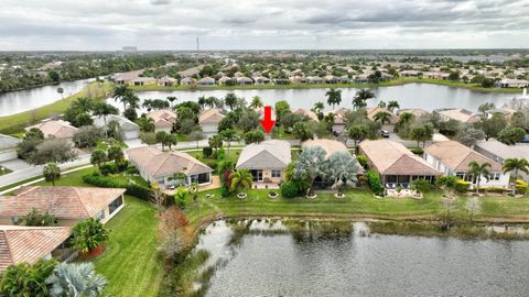
[{"label": "light gray hip roof directly below the red arrow", "polygon": [[236,168],[282,169],[292,161],[290,143],[280,140],[247,145],[240,152]]}]

